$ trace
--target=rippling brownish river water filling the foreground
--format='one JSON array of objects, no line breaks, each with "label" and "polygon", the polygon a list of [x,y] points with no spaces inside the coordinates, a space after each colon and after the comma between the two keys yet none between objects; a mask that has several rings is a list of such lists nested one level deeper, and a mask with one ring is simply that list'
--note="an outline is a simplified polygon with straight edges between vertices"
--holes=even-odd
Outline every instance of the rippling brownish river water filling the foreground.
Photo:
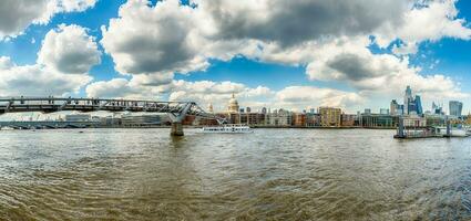
[{"label": "rippling brownish river water filling the foreground", "polygon": [[471,138],[0,131],[0,220],[471,220]]}]

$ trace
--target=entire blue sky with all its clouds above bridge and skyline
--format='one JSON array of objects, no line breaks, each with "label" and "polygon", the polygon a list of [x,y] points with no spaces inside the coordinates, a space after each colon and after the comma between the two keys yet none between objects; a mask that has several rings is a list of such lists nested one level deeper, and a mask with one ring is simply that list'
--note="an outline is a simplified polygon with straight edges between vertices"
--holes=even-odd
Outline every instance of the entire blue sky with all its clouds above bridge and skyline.
[{"label": "entire blue sky with all its clouds above bridge and skyline", "polygon": [[[211,2],[211,3],[209,3]],[[471,110],[464,0],[2,0],[0,96]]]}]

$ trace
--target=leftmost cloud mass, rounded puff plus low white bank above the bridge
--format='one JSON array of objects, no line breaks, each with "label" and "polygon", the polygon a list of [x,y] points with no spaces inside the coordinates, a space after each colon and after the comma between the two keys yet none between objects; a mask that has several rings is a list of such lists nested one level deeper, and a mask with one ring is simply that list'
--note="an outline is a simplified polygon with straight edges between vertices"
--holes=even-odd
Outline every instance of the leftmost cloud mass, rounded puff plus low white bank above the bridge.
[{"label": "leftmost cloud mass, rounded puff plus low white bank above the bridge", "polygon": [[78,25],[48,32],[33,65],[0,57],[0,96],[78,93],[92,81],[88,71],[100,62],[96,43]]}]

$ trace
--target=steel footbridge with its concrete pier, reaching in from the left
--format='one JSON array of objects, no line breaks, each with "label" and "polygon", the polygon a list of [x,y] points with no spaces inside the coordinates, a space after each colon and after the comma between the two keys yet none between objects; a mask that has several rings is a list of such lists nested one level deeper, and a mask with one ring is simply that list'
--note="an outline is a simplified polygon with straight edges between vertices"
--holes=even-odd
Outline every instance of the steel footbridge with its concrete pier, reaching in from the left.
[{"label": "steel footbridge with its concrete pier, reaching in from the left", "polygon": [[55,112],[142,112],[168,114],[172,120],[172,136],[183,136],[182,120],[187,115],[199,118],[216,119],[219,124],[224,118],[206,113],[195,102],[156,102],[140,99],[101,99],[101,98],[73,98],[73,97],[10,97],[0,98],[0,115],[7,113],[41,112],[44,114]]}]

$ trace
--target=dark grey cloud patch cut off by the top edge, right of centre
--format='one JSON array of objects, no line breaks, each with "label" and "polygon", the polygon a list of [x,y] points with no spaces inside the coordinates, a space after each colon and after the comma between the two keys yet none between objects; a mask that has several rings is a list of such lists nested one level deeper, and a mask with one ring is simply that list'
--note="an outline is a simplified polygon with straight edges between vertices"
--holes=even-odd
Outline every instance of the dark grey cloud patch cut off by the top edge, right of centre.
[{"label": "dark grey cloud patch cut off by the top edge, right of centre", "polygon": [[257,39],[294,45],[341,35],[365,35],[399,25],[408,9],[401,0],[195,1],[211,14],[223,39]]}]

